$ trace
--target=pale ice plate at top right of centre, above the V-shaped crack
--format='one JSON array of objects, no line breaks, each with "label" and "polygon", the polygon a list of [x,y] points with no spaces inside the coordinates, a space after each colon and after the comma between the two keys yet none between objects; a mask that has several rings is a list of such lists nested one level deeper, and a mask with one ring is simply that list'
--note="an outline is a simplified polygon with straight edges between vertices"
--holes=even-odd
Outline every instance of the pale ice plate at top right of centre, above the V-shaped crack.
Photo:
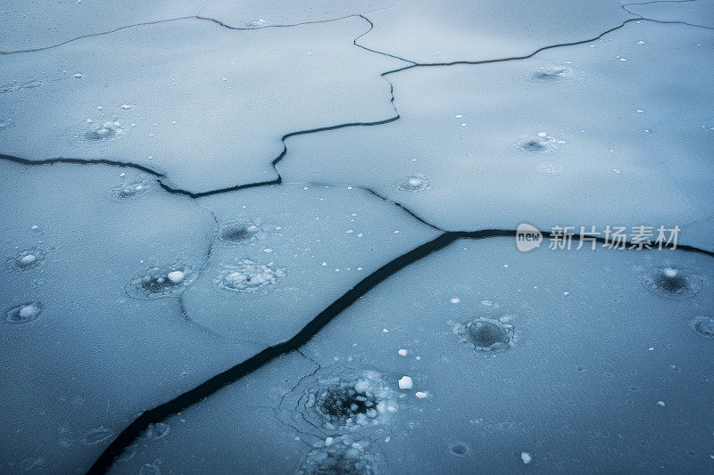
[{"label": "pale ice plate at top right of centre, above the V-shaped crack", "polygon": [[375,29],[361,45],[424,63],[524,56],[597,37],[633,18],[618,0],[399,0],[367,16]]}]

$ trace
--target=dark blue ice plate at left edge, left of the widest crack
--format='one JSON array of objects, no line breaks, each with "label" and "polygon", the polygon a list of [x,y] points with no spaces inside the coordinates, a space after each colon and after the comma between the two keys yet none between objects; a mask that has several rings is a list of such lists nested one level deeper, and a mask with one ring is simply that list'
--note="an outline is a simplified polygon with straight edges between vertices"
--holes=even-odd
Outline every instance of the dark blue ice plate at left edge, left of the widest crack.
[{"label": "dark blue ice plate at left edge, left of the widest crack", "polygon": [[[188,322],[178,298],[129,297],[126,284],[150,267],[202,266],[215,222],[158,186],[112,200],[122,174],[148,179],[0,161],[1,252],[11,261],[0,273],[4,473],[86,471],[138,412],[256,350]],[[15,265],[18,250],[50,248],[40,265]]]}]

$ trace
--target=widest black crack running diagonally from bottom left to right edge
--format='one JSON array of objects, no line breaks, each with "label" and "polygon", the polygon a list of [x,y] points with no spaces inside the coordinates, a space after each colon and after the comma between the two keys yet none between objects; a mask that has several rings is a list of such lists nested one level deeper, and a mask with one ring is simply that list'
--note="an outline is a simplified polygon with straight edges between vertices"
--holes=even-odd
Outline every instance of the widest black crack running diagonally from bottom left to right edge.
[{"label": "widest black crack running diagonally from bottom left to right edge", "polygon": [[[544,237],[554,237],[552,233],[542,232]],[[244,376],[251,374],[264,365],[269,364],[278,356],[285,355],[291,351],[299,351],[308,341],[320,332],[328,323],[332,322],[337,315],[340,315],[347,307],[350,307],[355,301],[361,299],[369,291],[374,289],[379,283],[384,282],[390,276],[398,273],[406,266],[427,258],[438,250],[443,250],[452,242],[460,239],[482,240],[494,237],[515,237],[516,231],[512,229],[486,229],[483,231],[474,232],[446,232],[440,234],[436,239],[419,245],[417,248],[410,250],[403,255],[394,258],[384,266],[379,267],[376,271],[369,274],[359,283],[354,285],[352,289],[346,291],[342,297],[336,299],[327,308],[316,315],[309,323],[303,326],[300,332],[297,332],[291,339],[278,343],[263,349],[261,352],[246,359],[242,363],[236,364],[228,370],[216,374],[207,381],[204,381],[194,389],[175,397],[170,401],[157,405],[152,409],[148,409],[140,414],[137,419],[122,430],[117,438],[112,440],[112,443],[104,449],[102,455],[96,460],[94,465],[87,471],[88,474],[105,473],[110,469],[112,463],[121,454],[121,452],[132,444],[150,424],[162,422],[171,415],[178,414],[186,410],[191,405],[195,405],[203,401],[206,397],[212,396],[220,389],[225,388],[229,384],[236,382]],[[571,236],[573,241],[580,241],[579,235]],[[588,241],[591,239],[587,237]],[[594,237],[594,241],[606,243],[602,237]],[[632,242],[626,242],[629,247]],[[671,246],[668,246],[671,249]],[[703,255],[714,257],[714,252],[709,250],[701,250],[693,246],[677,246],[677,250],[687,252],[696,252]],[[639,251],[639,250],[634,250]]]}]

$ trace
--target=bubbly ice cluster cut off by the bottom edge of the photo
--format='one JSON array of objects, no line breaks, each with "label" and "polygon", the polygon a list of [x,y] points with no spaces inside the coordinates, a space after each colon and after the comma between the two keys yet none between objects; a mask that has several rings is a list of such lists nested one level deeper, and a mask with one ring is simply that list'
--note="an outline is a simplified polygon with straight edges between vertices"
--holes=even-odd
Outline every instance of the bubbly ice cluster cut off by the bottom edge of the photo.
[{"label": "bubbly ice cluster cut off by the bottom edge of the photo", "polygon": [[369,452],[369,441],[348,436],[329,439],[329,445],[315,448],[305,456],[297,473],[304,475],[372,475],[377,473],[378,457]]}]

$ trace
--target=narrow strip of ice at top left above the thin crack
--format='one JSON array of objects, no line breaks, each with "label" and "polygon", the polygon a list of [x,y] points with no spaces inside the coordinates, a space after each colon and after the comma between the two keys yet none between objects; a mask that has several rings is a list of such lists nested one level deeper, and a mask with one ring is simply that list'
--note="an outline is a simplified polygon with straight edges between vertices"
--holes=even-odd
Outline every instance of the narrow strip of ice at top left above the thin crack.
[{"label": "narrow strip of ice at top left above the thin crack", "polygon": [[59,45],[131,25],[200,15],[236,28],[256,28],[323,21],[389,6],[386,0],[326,0],[288,3],[279,0],[33,0],[0,2],[0,51]]}]

